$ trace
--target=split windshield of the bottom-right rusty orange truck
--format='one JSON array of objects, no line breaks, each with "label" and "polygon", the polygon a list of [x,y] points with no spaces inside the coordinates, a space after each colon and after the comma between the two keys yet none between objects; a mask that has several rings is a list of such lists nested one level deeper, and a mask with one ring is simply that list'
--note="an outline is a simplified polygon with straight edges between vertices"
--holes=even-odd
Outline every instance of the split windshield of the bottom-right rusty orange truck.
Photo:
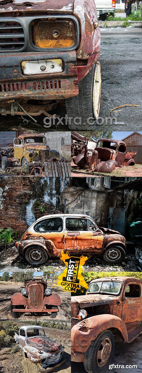
[{"label": "split windshield of the bottom-right rusty orange truck", "polygon": [[89,284],[87,293],[105,293],[105,294],[119,294],[121,289],[121,282],[109,280],[98,281]]}]

